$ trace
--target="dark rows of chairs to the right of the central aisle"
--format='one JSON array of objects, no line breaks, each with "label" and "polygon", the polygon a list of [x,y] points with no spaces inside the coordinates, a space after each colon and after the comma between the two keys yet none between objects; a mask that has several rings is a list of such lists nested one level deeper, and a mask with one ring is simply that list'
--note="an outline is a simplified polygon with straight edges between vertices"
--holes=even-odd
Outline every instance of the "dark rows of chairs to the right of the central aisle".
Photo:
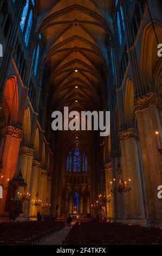
[{"label": "dark rows of chairs to the right of the central aisle", "polygon": [[106,222],[76,223],[63,245],[162,245],[160,228]]}]

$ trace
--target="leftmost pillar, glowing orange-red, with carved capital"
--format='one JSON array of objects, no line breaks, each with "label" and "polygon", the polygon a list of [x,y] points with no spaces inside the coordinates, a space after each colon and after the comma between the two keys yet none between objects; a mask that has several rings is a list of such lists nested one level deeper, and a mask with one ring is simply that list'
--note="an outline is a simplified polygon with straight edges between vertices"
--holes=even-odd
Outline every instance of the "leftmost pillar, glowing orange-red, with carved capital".
[{"label": "leftmost pillar, glowing orange-red, with carved capital", "polygon": [[11,180],[17,171],[17,160],[20,150],[20,142],[22,130],[12,126],[2,131],[2,143],[0,155],[2,159],[1,179],[3,185],[3,198],[0,199],[0,216],[7,215],[5,213],[5,203],[8,193],[9,180]]}]

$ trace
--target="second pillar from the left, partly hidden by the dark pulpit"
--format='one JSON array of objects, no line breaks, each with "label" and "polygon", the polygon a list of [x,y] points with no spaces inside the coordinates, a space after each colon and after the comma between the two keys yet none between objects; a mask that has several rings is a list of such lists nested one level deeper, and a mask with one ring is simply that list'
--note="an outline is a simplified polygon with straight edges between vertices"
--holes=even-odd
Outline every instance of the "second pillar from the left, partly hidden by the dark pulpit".
[{"label": "second pillar from the left, partly hidden by the dark pulpit", "polygon": [[[20,149],[20,167],[23,179],[27,183],[27,187],[25,191],[30,193],[30,184],[31,184],[31,170],[33,164],[33,157],[34,157],[34,149],[28,147],[22,147]],[[18,188],[18,192],[23,193],[24,188]],[[29,208],[30,202],[24,201],[23,203],[23,217],[29,217]]]}]

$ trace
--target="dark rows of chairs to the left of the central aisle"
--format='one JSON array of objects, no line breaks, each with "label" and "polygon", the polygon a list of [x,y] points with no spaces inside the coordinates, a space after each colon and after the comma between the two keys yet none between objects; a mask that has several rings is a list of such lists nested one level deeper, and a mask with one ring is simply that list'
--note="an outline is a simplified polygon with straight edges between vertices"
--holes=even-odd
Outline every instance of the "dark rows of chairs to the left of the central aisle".
[{"label": "dark rows of chairs to the left of the central aisle", "polygon": [[64,227],[55,221],[0,223],[0,245],[40,245]]}]

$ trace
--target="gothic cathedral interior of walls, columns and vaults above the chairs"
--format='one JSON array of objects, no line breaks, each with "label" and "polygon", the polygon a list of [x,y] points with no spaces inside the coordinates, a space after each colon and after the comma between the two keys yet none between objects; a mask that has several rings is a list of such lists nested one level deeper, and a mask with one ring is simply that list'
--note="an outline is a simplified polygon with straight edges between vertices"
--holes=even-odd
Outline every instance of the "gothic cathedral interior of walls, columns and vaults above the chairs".
[{"label": "gothic cathedral interior of walls, columns and vaults above the chairs", "polygon": [[[1,224],[39,215],[162,227],[161,14],[160,0],[0,1],[0,244]],[[54,131],[64,107],[109,111],[109,135]]]}]

